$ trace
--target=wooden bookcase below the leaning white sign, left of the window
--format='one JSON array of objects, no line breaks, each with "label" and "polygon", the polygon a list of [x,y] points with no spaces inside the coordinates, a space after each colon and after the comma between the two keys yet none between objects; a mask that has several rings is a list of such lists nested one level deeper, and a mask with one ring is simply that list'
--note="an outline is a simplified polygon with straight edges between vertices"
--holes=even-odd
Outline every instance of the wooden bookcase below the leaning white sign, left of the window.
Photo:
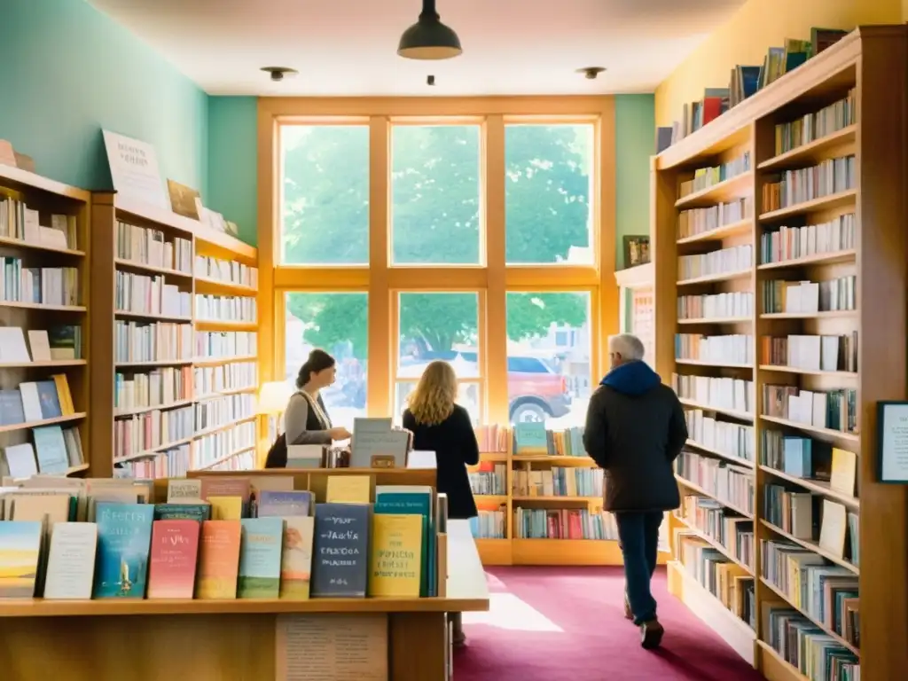
[{"label": "wooden bookcase below the leaning white sign, left of the window", "polygon": [[[239,331],[252,333],[254,338],[256,322],[231,321],[230,315],[219,313],[222,311],[202,315],[199,301],[200,296],[243,297],[254,301],[258,291],[257,272],[252,274],[252,278],[243,279],[235,268],[239,264],[256,268],[258,252],[228,234],[203,227],[198,221],[156,206],[133,202],[118,194],[95,193],[92,201],[92,244],[95,249],[91,275],[92,305],[98,321],[93,326],[91,343],[96,353],[94,356],[104,358],[91,368],[92,401],[98,405],[91,418],[96,435],[92,474],[107,477],[114,474],[114,468],[121,466],[133,468],[133,472],[144,478],[179,476],[193,469],[252,468],[257,420],[254,398],[258,389],[255,346],[244,345],[240,352],[225,351],[209,356],[209,353],[200,350],[203,344],[199,336],[204,332],[223,331],[229,334]],[[163,262],[145,257],[139,247],[135,247],[133,252],[118,252],[117,233],[123,229],[121,224],[157,232],[164,244],[169,244],[163,247],[173,248],[177,255],[183,253],[183,261],[175,265],[168,262],[164,266]],[[179,247],[174,245],[178,240],[183,240]],[[224,263],[222,269],[212,271],[205,259]],[[250,275],[250,272],[243,273]],[[121,309],[123,305],[117,300],[118,277],[130,274],[161,278],[163,285],[175,286],[184,297],[183,307],[167,313],[150,313],[141,308],[140,311]],[[138,290],[139,284],[135,286]],[[169,352],[158,352],[156,356],[123,355],[122,351],[118,354],[118,322],[181,325],[180,331],[176,332],[181,335],[174,333],[173,338],[183,338],[183,345],[179,350],[174,348]],[[242,385],[229,380],[209,380],[202,384],[205,375],[212,378],[212,374],[223,374],[231,378],[229,372],[238,369],[233,365],[242,362],[250,365],[249,375]],[[161,374],[162,382],[179,385],[182,390],[174,390],[173,400],[166,400],[164,404],[144,406],[142,400],[125,406],[118,403],[115,379],[118,373],[125,380],[133,380],[137,375],[150,376],[152,372]],[[180,378],[173,378],[174,373]],[[212,400],[246,400],[244,406],[247,409],[242,412],[221,410],[215,415],[218,418],[202,419],[200,405],[210,404]],[[178,417],[177,414],[183,416]],[[142,419],[158,418],[181,419],[183,427],[166,433],[169,437],[162,440],[167,441],[152,442],[150,447],[117,455],[114,431],[118,423],[133,419],[133,428],[136,428],[143,422]],[[244,425],[252,429],[248,445],[230,446],[228,440],[231,439],[232,429]],[[123,426],[119,425],[119,428]],[[215,451],[210,446],[206,447],[210,441],[205,439],[206,436],[222,439],[221,449]]]}]

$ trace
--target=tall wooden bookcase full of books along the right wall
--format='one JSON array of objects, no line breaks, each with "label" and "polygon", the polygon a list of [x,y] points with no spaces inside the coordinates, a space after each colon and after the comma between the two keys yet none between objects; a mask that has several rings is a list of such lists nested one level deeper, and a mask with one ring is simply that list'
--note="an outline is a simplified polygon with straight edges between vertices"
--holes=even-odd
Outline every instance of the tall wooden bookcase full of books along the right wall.
[{"label": "tall wooden bookcase full of books along the right wall", "polygon": [[[908,392],[906,56],[905,26],[861,27],[653,162],[656,369],[691,432],[669,588],[774,681],[814,677],[792,624],[865,678],[908,669],[908,495],[879,482],[875,420]],[[824,480],[848,452],[853,489]],[[795,561],[854,593],[859,638],[800,597]]]}]

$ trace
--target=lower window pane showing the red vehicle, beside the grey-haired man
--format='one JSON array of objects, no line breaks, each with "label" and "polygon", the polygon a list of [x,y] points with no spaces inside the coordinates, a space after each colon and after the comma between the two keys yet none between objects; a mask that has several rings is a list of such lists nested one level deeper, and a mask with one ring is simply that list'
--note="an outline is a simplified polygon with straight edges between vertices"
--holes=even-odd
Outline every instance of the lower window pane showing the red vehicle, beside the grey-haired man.
[{"label": "lower window pane showing the red vehicle, beside the grey-haired man", "polygon": [[583,425],[592,378],[589,294],[508,292],[512,423]]}]

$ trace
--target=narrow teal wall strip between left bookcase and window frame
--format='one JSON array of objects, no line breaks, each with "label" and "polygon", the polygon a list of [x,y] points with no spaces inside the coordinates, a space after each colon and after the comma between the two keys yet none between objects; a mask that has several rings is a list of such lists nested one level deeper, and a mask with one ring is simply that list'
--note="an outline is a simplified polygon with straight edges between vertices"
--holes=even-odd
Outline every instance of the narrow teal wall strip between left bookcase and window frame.
[{"label": "narrow teal wall strip between left bookcase and window frame", "polygon": [[258,138],[256,97],[208,100],[208,191],[205,205],[240,228],[240,238],[258,242]]}]

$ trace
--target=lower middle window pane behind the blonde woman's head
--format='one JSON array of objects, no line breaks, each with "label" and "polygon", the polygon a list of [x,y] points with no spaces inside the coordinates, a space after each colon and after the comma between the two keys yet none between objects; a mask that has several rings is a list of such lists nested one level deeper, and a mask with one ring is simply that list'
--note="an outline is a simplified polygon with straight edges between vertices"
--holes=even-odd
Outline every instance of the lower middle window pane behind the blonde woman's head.
[{"label": "lower middle window pane behind the blonde woman's head", "polygon": [[430,361],[454,368],[461,404],[479,421],[479,295],[477,293],[400,293],[395,415]]}]

